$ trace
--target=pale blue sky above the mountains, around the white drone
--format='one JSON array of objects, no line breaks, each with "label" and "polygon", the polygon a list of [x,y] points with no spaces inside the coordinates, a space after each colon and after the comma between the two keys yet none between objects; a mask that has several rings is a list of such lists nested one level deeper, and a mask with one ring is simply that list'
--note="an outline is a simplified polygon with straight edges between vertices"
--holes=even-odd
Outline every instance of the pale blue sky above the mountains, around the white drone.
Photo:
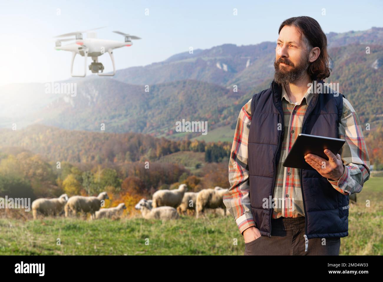
[{"label": "pale blue sky above the mountains, around the white drone", "polygon": [[[56,51],[54,36],[73,31],[106,26],[97,38],[124,41],[114,30],[141,37],[115,50],[116,69],[124,69],[164,61],[190,47],[275,42],[280,23],[292,16],[311,16],[325,33],[342,33],[383,27],[382,12],[382,1],[1,0],[0,85],[68,79],[71,53]],[[99,61],[105,72],[112,70],[107,54]],[[83,57],[76,56],[74,72],[82,66]]]}]

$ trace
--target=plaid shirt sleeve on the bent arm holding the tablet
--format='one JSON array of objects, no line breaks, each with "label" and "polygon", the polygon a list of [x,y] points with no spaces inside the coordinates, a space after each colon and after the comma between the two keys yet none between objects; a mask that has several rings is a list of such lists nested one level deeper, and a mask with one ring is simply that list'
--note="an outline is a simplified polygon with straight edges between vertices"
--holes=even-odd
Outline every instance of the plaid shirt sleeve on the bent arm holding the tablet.
[{"label": "plaid shirt sleeve on the bent arm holding the tablet", "polygon": [[343,113],[338,125],[339,138],[346,142],[342,147],[344,172],[339,180],[329,180],[332,187],[344,195],[359,193],[370,178],[370,159],[359,118],[350,102],[343,97]]}]

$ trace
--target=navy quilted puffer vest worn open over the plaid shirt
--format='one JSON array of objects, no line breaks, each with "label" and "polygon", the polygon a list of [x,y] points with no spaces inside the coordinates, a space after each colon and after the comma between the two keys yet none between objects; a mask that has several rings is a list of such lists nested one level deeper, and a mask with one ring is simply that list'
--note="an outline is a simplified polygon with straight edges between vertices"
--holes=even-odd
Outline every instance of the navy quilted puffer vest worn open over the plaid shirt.
[{"label": "navy quilted puffer vest worn open over the plaid shirt", "polygon": [[[317,81],[319,83],[324,82]],[[248,140],[252,214],[261,235],[270,238],[272,208],[265,209],[262,204],[264,198],[273,196],[277,164],[282,151],[285,128],[281,95],[282,86],[273,81],[269,89],[253,96],[251,113],[254,117],[250,123]],[[314,92],[303,118],[302,133],[338,138],[342,99],[340,93],[336,96]],[[278,124],[282,125],[282,130],[278,130]],[[349,196],[334,189],[317,171],[301,169],[300,179],[306,221],[306,248],[311,238],[348,236]]]}]

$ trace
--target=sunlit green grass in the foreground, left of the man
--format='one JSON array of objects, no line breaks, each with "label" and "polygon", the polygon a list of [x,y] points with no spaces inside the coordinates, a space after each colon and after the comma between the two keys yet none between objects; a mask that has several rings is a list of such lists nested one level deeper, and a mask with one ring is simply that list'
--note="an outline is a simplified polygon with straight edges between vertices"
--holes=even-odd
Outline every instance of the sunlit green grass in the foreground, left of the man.
[{"label": "sunlit green grass in the foreground, left of the man", "polygon": [[178,221],[0,219],[0,230],[0,255],[230,255],[244,250],[234,220],[214,215]]}]

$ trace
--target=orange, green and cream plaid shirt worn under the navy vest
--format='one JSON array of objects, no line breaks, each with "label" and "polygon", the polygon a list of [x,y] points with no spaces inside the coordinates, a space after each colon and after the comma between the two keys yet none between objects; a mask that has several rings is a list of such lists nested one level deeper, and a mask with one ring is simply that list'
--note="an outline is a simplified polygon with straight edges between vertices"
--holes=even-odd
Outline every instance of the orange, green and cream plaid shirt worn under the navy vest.
[{"label": "orange, green and cream plaid shirt worn under the navy vest", "polygon": [[[283,161],[301,133],[304,113],[313,97],[309,88],[301,102],[291,103],[286,90],[282,87],[282,106],[284,112],[285,133],[282,152],[278,162],[275,187],[272,198],[284,199],[273,209],[272,218],[304,216],[303,198],[300,183],[300,169],[282,166]],[[229,160],[229,182],[231,187],[225,192],[223,202],[234,216],[241,234],[250,226],[255,226],[250,208],[249,166],[247,140],[251,122],[251,100],[241,108]],[[256,116],[255,116],[256,118]],[[339,180],[329,180],[339,193],[349,195],[359,193],[363,183],[370,177],[370,161],[363,138],[359,119],[350,102],[343,97],[341,123],[338,124],[339,138],[346,142],[342,147],[344,172]],[[286,149],[288,148],[288,149]]]}]

